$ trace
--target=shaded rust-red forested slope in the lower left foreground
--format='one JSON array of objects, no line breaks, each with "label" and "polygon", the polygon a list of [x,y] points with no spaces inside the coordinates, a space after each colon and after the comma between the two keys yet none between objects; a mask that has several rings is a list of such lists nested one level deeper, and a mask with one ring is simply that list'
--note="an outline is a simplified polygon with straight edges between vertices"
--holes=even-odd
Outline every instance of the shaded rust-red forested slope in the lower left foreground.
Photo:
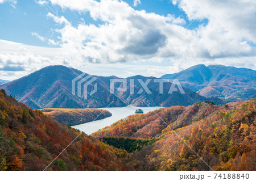
[{"label": "shaded rust-red forested slope in the lower left foreground", "polygon": [[[79,134],[0,93],[0,170],[44,170]],[[82,133],[47,170],[126,170],[127,155]]]}]

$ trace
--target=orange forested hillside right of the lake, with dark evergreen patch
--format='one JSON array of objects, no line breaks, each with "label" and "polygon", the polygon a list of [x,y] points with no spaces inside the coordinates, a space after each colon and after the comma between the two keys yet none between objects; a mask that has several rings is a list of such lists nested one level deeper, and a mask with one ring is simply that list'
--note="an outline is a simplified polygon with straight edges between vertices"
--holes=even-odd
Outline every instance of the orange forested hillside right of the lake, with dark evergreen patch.
[{"label": "orange forested hillside right of the lake, with dark evergreen patch", "polygon": [[256,170],[255,110],[256,99],[172,106],[92,136],[131,153],[127,164],[135,170]]}]

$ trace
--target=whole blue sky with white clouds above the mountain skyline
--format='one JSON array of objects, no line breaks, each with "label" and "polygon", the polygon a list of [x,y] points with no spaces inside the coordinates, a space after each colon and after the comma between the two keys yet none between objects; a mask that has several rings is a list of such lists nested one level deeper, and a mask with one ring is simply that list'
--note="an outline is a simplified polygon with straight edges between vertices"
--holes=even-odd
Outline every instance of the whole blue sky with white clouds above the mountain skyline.
[{"label": "whole blue sky with white clouds above the mountain skyline", "polygon": [[49,65],[125,78],[255,62],[254,0],[0,0],[0,79]]}]

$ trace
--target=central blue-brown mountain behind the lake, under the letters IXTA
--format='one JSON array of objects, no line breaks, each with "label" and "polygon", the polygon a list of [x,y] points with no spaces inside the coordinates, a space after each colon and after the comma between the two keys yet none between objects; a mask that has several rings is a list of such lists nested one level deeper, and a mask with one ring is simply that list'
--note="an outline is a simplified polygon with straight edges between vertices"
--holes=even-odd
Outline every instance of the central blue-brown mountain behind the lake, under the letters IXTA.
[{"label": "central blue-brown mountain behind the lake, under the letters IXTA", "polygon": [[[163,94],[159,94],[160,86],[158,82],[154,82],[154,79],[158,79],[155,77],[143,77],[142,75],[136,75],[134,77],[128,77],[127,79],[127,91],[117,92],[117,96],[122,100],[125,100],[127,104],[133,104],[134,106],[188,106],[195,102],[201,102],[204,100],[211,100],[214,103],[222,104],[223,102],[217,98],[205,98],[204,96],[200,96],[196,92],[191,91],[190,89],[183,87],[184,94],[181,94],[181,91],[176,87],[177,91],[168,93],[172,82],[166,82],[163,84]],[[139,79],[143,82],[148,81],[148,90],[150,93],[143,91],[140,94],[140,90],[143,89],[141,83],[139,83]],[[133,83],[131,81],[134,80],[134,94],[131,94],[131,86]],[[149,80],[151,80],[149,82]]]}]

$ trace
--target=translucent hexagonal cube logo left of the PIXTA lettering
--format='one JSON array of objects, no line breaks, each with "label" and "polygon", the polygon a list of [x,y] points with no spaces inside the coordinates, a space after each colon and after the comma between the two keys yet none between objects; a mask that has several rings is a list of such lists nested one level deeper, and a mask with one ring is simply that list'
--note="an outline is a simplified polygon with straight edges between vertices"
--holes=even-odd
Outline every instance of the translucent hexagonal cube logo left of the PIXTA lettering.
[{"label": "translucent hexagonal cube logo left of the PIXTA lettering", "polygon": [[[81,75],[72,79],[72,94],[76,95],[76,87],[77,87],[77,96],[79,96],[80,98],[87,99],[88,94],[93,95],[95,92],[97,92],[97,86],[98,86],[97,82],[94,83],[93,85],[94,89],[89,93],[88,93],[88,86],[92,85],[92,83],[96,81],[98,78],[92,77],[91,75],[86,75],[86,76],[85,75],[86,75],[85,73],[82,73]],[[82,92],[82,85],[83,85],[83,92]]]}]

